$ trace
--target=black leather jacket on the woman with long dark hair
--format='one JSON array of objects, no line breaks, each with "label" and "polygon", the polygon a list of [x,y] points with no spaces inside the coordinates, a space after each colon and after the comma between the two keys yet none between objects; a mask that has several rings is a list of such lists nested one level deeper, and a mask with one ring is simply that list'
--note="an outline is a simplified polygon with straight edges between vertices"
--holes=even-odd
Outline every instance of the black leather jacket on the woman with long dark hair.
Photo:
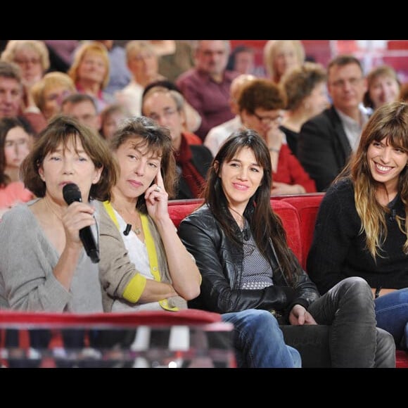
[{"label": "black leather jacket on the woman with long dark hair", "polygon": [[300,276],[293,287],[278,271],[271,241],[270,257],[274,269],[274,285],[264,289],[243,290],[241,286],[243,250],[225,236],[220,224],[205,205],[186,217],[179,226],[179,236],[196,258],[203,276],[198,298],[189,307],[227,313],[247,309],[276,310],[288,314],[295,304],[306,309],[319,298],[317,286],[309,279],[295,258]]}]

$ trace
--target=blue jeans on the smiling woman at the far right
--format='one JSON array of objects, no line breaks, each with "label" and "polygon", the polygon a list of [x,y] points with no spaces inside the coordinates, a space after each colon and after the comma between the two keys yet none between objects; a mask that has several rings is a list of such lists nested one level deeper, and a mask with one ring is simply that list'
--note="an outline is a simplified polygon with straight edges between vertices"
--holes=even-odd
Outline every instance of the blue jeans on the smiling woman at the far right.
[{"label": "blue jeans on the smiling woman at the far right", "polygon": [[377,326],[391,333],[400,350],[408,350],[408,288],[380,296],[374,301]]}]

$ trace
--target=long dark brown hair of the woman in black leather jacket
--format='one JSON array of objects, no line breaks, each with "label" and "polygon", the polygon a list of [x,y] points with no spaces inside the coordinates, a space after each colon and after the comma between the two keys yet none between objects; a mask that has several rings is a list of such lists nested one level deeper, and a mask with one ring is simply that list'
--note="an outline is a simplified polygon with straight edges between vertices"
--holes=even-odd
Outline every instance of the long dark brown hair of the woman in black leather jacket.
[{"label": "long dark brown hair of the woman in black leather jacket", "polygon": [[212,214],[228,238],[236,243],[238,247],[241,247],[241,234],[228,209],[228,202],[222,189],[219,173],[222,166],[231,161],[243,148],[250,148],[253,151],[257,164],[264,170],[262,182],[257,191],[255,191],[255,194],[250,198],[243,215],[248,219],[257,248],[269,259],[272,243],[279,260],[281,273],[288,281],[293,283],[295,276],[302,271],[300,266],[295,264],[295,255],[288,248],[286,231],[283,228],[281,219],[271,208],[271,155],[266,142],[260,134],[257,134],[252,129],[237,130],[224,141],[208,171],[207,184],[204,191],[204,204],[208,204]]}]

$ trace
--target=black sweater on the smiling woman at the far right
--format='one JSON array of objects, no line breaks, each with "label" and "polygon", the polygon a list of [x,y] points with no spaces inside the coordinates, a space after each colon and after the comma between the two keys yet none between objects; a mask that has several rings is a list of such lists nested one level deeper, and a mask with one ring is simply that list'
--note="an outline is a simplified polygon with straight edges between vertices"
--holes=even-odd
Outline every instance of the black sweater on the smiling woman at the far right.
[{"label": "black sweater on the smiling woman at the far right", "polygon": [[[390,205],[404,217],[400,198]],[[359,234],[354,187],[340,181],[326,192],[317,215],[314,237],[307,257],[307,272],[320,293],[325,293],[348,276],[361,276],[371,288],[405,288],[408,286],[408,256],[402,252],[406,237],[390,215],[385,215],[388,234],[382,257],[376,262],[366,250],[365,234]]]}]

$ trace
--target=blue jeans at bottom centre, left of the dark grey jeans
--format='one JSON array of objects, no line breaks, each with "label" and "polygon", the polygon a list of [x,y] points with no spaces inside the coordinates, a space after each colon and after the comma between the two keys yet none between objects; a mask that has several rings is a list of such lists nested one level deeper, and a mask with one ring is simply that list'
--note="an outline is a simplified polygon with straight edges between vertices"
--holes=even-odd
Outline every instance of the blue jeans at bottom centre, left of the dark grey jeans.
[{"label": "blue jeans at bottom centre, left of the dark grey jeans", "polygon": [[234,324],[234,348],[238,367],[300,368],[298,350],[285,344],[279,323],[265,310],[248,309],[222,314]]}]

